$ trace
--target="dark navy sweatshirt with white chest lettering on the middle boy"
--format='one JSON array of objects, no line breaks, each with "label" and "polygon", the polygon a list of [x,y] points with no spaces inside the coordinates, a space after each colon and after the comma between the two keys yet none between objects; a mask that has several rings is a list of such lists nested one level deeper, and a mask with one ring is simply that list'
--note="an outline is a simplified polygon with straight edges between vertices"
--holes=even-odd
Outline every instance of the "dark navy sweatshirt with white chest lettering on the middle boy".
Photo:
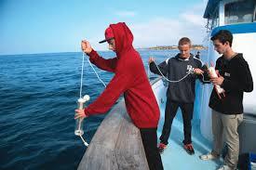
[{"label": "dark navy sweatshirt with white chest lettering on the middle boy", "polygon": [[[160,63],[158,68],[171,81],[182,79],[188,72],[193,72],[193,69],[202,69],[203,63],[200,59],[196,59],[191,54],[190,58],[185,60],[180,58],[180,54],[174,58],[167,59]],[[150,71],[161,75],[156,68],[155,62],[150,64]],[[172,101],[182,103],[193,103],[195,101],[195,79],[201,78],[194,73],[190,73],[181,82],[168,83],[167,96]]]}]

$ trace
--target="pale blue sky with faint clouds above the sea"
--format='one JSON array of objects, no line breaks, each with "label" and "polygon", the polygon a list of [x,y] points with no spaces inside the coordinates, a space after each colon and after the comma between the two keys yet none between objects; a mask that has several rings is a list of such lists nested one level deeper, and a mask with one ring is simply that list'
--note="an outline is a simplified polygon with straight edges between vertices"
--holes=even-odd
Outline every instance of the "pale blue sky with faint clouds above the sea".
[{"label": "pale blue sky with faint clouds above the sea", "polygon": [[104,31],[126,22],[135,47],[202,44],[206,0],[0,0],[0,55],[78,52],[87,39],[107,50]]}]

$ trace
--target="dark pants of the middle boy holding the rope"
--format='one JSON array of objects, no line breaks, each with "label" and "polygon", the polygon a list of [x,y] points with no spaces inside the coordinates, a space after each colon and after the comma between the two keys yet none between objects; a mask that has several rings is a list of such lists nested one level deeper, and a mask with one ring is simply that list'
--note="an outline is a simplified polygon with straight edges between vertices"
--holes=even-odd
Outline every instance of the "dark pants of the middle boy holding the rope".
[{"label": "dark pants of the middle boy holding the rope", "polygon": [[166,111],[165,111],[165,124],[163,127],[162,135],[160,137],[161,143],[168,145],[170,127],[179,107],[182,110],[182,119],[183,119],[183,132],[184,132],[183,144],[192,143],[191,120],[193,119],[194,103],[180,103],[180,102],[171,101],[169,98],[167,99],[167,105],[166,105]]}]

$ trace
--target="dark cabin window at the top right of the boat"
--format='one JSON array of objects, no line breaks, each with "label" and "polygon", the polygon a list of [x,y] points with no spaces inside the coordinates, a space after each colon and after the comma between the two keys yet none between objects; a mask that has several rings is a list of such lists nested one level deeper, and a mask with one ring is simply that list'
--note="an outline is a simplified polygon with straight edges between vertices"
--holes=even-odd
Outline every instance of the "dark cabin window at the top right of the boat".
[{"label": "dark cabin window at the top right of the boat", "polygon": [[225,5],[225,24],[249,23],[254,18],[255,0],[240,0]]}]

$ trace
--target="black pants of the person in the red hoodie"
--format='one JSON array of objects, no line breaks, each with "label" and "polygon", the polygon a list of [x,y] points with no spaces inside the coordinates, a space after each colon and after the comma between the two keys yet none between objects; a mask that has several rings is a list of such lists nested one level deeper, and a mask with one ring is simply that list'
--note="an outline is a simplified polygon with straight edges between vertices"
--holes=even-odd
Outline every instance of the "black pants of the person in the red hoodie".
[{"label": "black pants of the person in the red hoodie", "polygon": [[150,170],[162,170],[161,156],[157,150],[156,128],[141,128],[141,139]]}]

